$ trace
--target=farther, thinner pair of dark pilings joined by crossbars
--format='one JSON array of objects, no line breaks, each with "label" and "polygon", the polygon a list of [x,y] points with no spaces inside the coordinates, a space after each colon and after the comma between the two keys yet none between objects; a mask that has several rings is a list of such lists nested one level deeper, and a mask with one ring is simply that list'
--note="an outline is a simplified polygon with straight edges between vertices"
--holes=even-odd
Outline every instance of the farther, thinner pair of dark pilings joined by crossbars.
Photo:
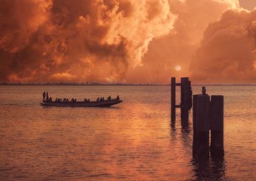
[{"label": "farther, thinner pair of dark pilings joined by crossbars", "polygon": [[[181,103],[176,105],[176,86],[181,86]],[[192,107],[192,90],[191,81],[188,77],[182,77],[181,83],[176,82],[176,78],[172,77],[170,81],[170,107],[172,123],[176,119],[176,108],[181,108],[181,124],[186,126],[189,121],[189,111]]]}]

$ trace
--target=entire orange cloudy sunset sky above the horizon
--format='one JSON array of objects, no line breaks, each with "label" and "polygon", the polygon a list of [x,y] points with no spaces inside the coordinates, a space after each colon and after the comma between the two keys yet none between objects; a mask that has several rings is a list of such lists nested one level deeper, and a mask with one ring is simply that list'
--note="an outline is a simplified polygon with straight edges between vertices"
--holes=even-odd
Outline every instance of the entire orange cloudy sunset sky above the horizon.
[{"label": "entire orange cloudy sunset sky above the horizon", "polygon": [[256,0],[0,1],[0,82],[256,83]]}]

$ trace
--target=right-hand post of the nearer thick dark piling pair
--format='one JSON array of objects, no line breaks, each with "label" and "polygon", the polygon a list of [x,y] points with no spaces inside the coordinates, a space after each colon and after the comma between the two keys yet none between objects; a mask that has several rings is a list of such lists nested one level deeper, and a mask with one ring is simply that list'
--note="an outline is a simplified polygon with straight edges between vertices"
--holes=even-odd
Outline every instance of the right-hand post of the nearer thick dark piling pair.
[{"label": "right-hand post of the nearer thick dark piling pair", "polygon": [[224,97],[212,95],[210,111],[211,156],[224,156]]}]

